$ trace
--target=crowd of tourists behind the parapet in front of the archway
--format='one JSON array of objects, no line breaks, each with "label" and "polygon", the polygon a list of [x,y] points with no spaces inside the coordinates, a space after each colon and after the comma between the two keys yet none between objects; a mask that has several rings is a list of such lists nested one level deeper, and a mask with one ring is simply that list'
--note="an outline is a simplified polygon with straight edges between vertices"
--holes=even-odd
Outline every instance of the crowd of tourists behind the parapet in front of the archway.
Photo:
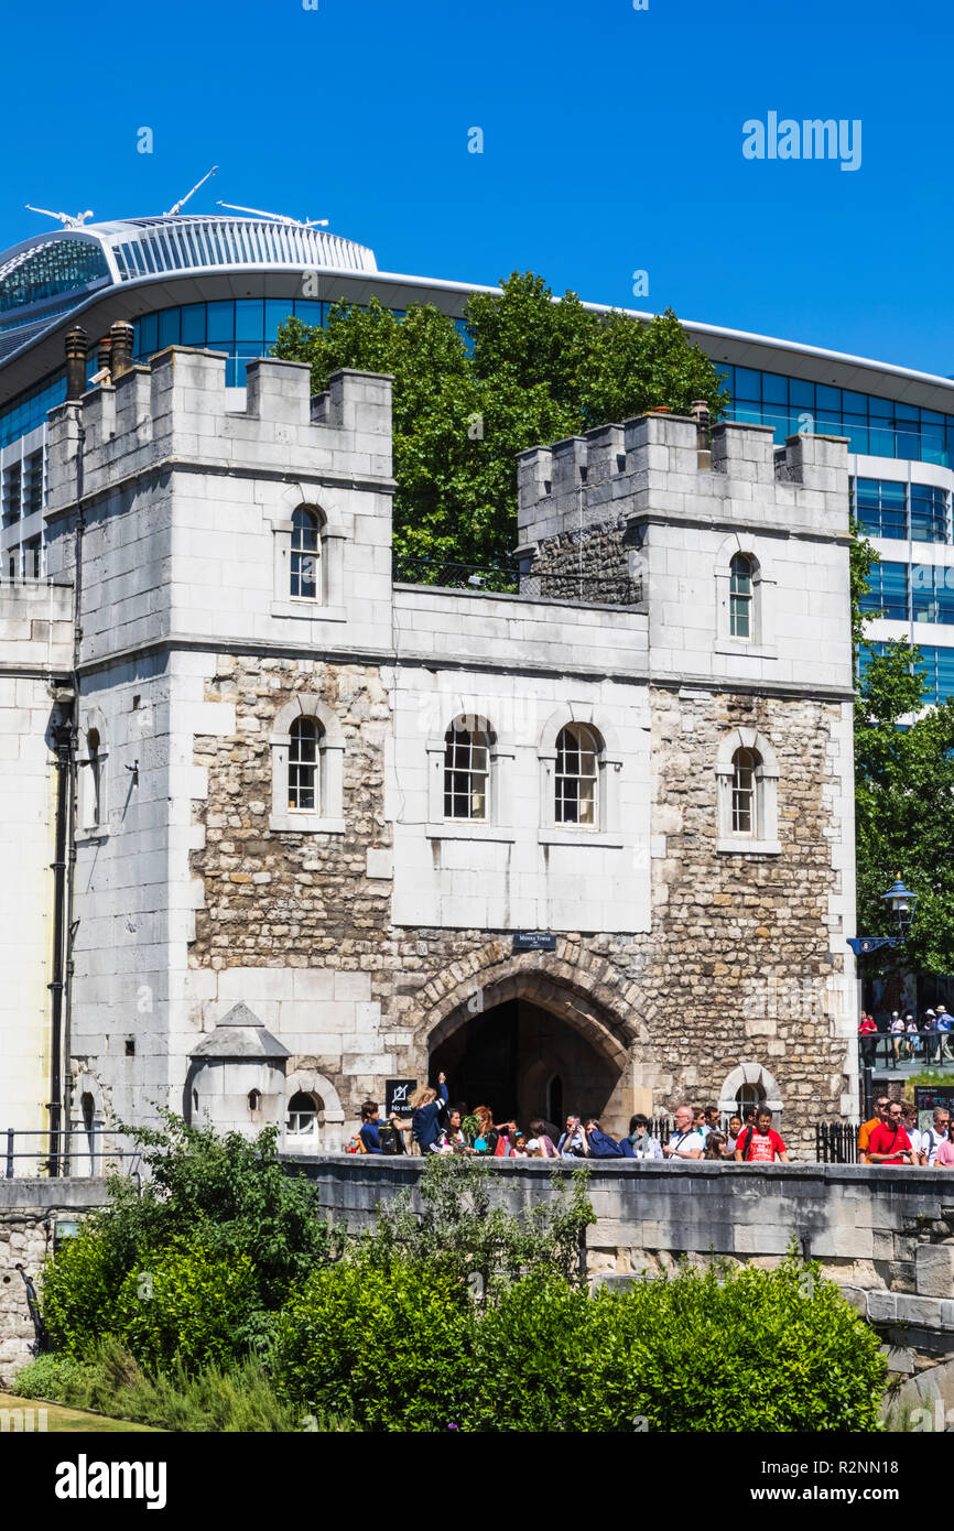
[{"label": "crowd of tourists behind the parapet in front of the archway", "polygon": [[361,1127],[348,1144],[349,1153],[404,1153],[404,1133],[420,1154],[482,1154],[495,1159],[732,1159],[740,1164],[787,1162],[789,1153],[772,1127],[772,1112],[746,1107],[723,1127],[717,1105],[680,1105],[672,1131],[654,1136],[648,1116],[629,1119],[629,1131],[613,1138],[597,1118],[568,1115],[560,1128],[536,1118],[528,1130],[516,1121],[495,1122],[487,1105],[467,1112],[452,1105],[441,1073],[436,1090],[424,1085],[409,1101],[410,1116],[392,1113],[386,1122],[377,1101],[364,1101]]}]

